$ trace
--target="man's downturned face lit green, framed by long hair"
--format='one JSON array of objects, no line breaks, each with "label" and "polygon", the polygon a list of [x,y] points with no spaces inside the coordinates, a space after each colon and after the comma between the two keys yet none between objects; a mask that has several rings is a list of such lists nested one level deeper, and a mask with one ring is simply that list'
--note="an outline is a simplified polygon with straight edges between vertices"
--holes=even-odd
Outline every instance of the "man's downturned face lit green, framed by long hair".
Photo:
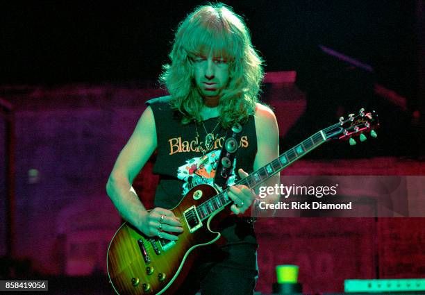
[{"label": "man's downturned face lit green, framed by long hair", "polygon": [[199,54],[192,60],[195,82],[203,99],[219,98],[229,79],[227,60],[212,52],[208,56]]}]

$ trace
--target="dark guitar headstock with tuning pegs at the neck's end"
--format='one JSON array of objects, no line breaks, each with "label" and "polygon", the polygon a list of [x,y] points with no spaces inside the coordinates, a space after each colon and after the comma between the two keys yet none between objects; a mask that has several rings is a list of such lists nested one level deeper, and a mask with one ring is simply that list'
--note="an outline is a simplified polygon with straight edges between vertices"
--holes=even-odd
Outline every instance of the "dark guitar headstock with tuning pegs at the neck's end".
[{"label": "dark guitar headstock with tuning pegs at the neck's end", "polygon": [[360,137],[360,142],[364,142],[370,134],[377,137],[375,129],[378,128],[378,114],[373,110],[366,112],[364,108],[358,111],[358,114],[349,114],[347,119],[340,117],[340,121],[328,128],[322,130],[326,140],[349,140],[351,145],[356,144],[353,137]]}]

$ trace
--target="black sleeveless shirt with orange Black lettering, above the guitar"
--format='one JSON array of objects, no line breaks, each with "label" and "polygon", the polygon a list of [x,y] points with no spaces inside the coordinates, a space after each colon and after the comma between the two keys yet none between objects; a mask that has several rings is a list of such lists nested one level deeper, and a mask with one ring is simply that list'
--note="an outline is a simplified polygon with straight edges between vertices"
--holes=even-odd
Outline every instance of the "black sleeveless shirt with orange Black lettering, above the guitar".
[{"label": "black sleeveless shirt with orange Black lettering, above the guitar", "polygon": [[[156,124],[157,151],[153,173],[159,174],[154,204],[161,208],[174,208],[192,187],[201,183],[213,184],[217,161],[226,138],[226,130],[219,124],[219,118],[203,122],[181,124],[181,117],[169,104],[170,96],[147,101],[151,106]],[[212,132],[214,130],[214,132]],[[206,133],[217,134],[214,144],[206,151],[208,160],[201,157],[199,148],[205,149]],[[231,131],[228,131],[230,133]],[[197,133],[199,137],[197,137]],[[239,180],[238,169],[247,173],[253,171],[257,151],[254,117],[250,116],[243,125],[239,148],[235,155],[235,169],[229,178],[229,185]]]}]

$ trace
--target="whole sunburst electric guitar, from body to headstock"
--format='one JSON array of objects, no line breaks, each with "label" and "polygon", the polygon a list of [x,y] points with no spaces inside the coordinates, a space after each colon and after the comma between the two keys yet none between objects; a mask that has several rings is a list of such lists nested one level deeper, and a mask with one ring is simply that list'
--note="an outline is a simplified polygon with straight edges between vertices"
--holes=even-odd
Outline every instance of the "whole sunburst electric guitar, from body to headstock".
[{"label": "whole sunburst electric guitar, from body to headstock", "polygon": [[[360,135],[360,141],[370,132],[376,137],[378,117],[375,112],[350,114],[337,124],[318,131],[286,151],[264,167],[238,181],[239,185],[254,188],[270,176],[328,140],[350,140]],[[108,247],[108,276],[113,289],[121,295],[174,294],[190,269],[194,254],[220,237],[211,226],[212,219],[231,205],[225,194],[210,185],[193,187],[182,201],[172,209],[183,224],[183,233],[177,241],[147,237],[128,222],[117,230]],[[219,219],[222,214],[216,216]],[[216,221],[216,220],[215,220]]]}]

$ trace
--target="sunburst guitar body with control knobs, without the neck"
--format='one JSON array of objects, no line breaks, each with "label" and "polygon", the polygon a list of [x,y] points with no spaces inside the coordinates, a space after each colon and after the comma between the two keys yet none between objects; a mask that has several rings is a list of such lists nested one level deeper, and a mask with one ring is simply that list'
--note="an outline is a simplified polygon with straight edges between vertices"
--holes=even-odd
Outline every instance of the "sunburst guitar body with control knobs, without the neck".
[{"label": "sunburst guitar body with control knobs, without the neck", "polygon": [[[215,195],[214,187],[197,185],[172,212],[181,218],[189,208]],[[202,221],[196,230],[185,217],[181,218],[183,233],[175,242],[147,237],[131,224],[122,224],[108,247],[108,276],[115,292],[121,295],[173,294],[190,269],[193,252],[219,239],[220,234],[210,230],[214,216]]]}]

